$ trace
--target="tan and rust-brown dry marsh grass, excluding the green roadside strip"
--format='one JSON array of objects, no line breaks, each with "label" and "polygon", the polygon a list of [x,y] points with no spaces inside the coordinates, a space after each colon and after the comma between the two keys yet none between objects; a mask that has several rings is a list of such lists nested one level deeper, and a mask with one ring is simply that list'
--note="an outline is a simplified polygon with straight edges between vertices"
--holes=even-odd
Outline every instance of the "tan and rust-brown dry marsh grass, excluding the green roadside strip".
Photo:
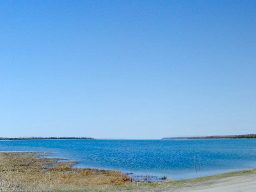
[{"label": "tan and rust-brown dry marsh grass, excluding the green roadside strip", "polygon": [[76,162],[45,158],[47,153],[0,153],[0,191],[84,190],[123,185],[118,171],[71,168]]}]

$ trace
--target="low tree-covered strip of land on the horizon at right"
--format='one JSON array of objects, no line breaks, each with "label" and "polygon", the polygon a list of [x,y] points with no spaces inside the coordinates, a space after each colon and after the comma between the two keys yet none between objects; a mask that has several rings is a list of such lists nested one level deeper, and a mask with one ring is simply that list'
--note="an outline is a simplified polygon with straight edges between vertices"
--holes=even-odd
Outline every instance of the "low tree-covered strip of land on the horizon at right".
[{"label": "low tree-covered strip of land on the horizon at right", "polygon": [[189,140],[189,139],[256,139],[256,134],[246,135],[214,135],[214,136],[198,136],[198,137],[164,137],[161,140]]}]

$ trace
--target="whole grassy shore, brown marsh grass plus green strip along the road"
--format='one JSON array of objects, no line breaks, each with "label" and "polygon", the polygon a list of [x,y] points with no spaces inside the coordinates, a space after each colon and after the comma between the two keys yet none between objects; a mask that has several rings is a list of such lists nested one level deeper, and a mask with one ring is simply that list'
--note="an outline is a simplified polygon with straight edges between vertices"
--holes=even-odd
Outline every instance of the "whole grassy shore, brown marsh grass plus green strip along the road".
[{"label": "whole grassy shore, brown marsh grass plus green strip along the road", "polygon": [[75,161],[46,158],[48,153],[0,152],[0,191],[144,191],[256,173],[256,169],[189,180],[134,182],[118,171],[76,169]]}]

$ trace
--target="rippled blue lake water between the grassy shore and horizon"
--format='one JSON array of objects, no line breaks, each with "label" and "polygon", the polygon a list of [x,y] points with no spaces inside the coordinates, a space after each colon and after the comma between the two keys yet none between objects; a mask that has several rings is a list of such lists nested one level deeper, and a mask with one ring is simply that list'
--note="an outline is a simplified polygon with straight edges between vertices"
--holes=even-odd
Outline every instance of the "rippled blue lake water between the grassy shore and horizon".
[{"label": "rippled blue lake water between the grassy shore and horizon", "polygon": [[[76,167],[114,169],[174,180],[256,168],[256,140],[12,140],[0,151],[55,152]],[[195,159],[197,173],[195,169]]]}]

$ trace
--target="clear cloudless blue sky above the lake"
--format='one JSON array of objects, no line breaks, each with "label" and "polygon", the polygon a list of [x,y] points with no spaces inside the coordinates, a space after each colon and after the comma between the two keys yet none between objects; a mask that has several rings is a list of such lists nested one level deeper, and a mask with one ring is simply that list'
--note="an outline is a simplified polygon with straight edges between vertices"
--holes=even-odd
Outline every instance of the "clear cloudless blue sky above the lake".
[{"label": "clear cloudless blue sky above the lake", "polygon": [[1,1],[0,137],[256,133],[255,1]]}]

